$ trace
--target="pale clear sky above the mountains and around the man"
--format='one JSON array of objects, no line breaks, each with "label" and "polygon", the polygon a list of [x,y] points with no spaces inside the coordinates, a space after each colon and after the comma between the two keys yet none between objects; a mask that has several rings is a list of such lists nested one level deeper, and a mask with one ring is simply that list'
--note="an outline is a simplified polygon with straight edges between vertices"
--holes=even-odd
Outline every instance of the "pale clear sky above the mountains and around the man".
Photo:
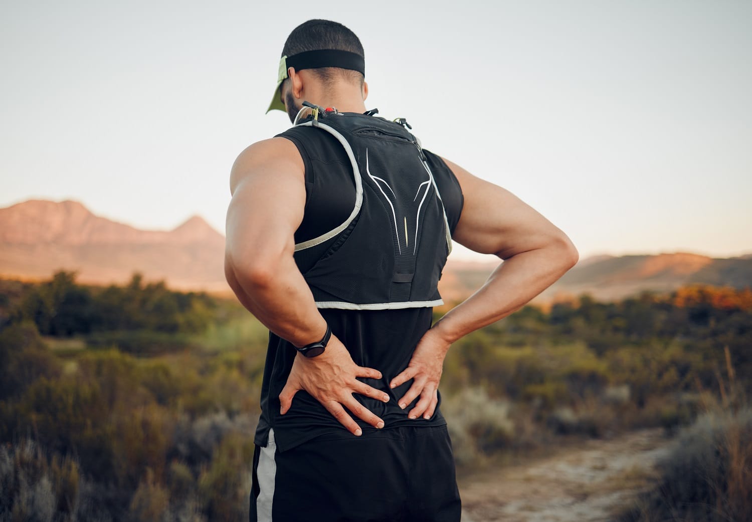
[{"label": "pale clear sky above the mountains and around the man", "polygon": [[[8,2],[0,206],[224,233],[287,35],[344,23],[366,108],[599,253],[752,252],[752,2]],[[456,247],[453,258],[472,256]],[[482,257],[482,256],[480,256]]]}]

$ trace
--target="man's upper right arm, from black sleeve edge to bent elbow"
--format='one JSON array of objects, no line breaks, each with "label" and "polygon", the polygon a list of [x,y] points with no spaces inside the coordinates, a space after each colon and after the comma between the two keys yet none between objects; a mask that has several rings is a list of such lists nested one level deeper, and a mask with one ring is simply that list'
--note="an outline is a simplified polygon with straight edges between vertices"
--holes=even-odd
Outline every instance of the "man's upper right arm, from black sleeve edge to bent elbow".
[{"label": "man's upper right arm, from black sleeve edge to bent elbow", "polygon": [[459,244],[508,259],[566,238],[561,229],[509,190],[441,159],[453,171],[465,199],[452,236]]}]

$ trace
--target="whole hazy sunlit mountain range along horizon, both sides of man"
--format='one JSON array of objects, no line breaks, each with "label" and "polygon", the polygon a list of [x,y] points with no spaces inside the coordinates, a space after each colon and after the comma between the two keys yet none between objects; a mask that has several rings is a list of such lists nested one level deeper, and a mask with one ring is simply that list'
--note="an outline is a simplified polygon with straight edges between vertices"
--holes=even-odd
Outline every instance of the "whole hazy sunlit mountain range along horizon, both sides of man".
[{"label": "whole hazy sunlit mountain range along horizon, both sides of man", "polygon": [[[164,279],[177,290],[232,296],[224,275],[225,238],[194,215],[172,230],[141,230],[93,214],[80,202],[29,199],[0,208],[0,277],[47,279],[78,270],[86,284],[123,284],[133,272]],[[447,302],[478,290],[499,262],[450,259],[439,282]],[[599,255],[581,259],[533,302],[590,293],[621,299],[640,290],[665,292],[682,284],[752,285],[752,253],[711,258],[696,253]]]}]

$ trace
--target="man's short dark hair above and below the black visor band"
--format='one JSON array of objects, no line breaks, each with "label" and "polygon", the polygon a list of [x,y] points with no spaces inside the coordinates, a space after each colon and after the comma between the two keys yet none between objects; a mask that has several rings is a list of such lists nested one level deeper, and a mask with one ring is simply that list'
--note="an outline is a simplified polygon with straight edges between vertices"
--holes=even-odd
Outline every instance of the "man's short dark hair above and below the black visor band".
[{"label": "man's short dark hair above and below the black visor band", "polygon": [[[306,50],[338,49],[348,50],[365,59],[363,46],[354,32],[341,23],[332,20],[316,18],[303,22],[290,33],[284,43],[281,56],[293,56]],[[316,74],[326,86],[331,86],[338,78],[350,83],[359,82],[362,86],[365,79],[359,71],[340,67],[318,67],[308,69]]]}]

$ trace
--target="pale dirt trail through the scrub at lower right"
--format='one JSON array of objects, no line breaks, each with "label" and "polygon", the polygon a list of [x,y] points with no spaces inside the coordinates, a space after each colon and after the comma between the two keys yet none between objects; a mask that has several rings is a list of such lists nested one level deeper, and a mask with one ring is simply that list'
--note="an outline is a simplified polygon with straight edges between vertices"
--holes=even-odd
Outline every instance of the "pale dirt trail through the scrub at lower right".
[{"label": "pale dirt trail through the scrub at lower right", "polygon": [[459,481],[462,522],[602,522],[644,488],[671,441],[645,429]]}]

